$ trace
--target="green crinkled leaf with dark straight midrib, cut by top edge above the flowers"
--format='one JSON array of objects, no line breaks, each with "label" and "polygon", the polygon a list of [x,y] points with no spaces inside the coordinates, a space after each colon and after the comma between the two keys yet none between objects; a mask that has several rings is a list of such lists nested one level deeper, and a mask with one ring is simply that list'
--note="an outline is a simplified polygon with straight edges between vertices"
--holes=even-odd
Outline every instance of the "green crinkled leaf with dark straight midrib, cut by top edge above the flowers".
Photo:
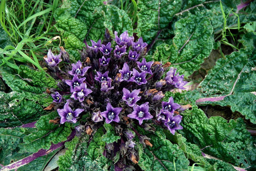
[{"label": "green crinkled leaf with dark straight midrib, cut by top edge above the flowers", "polygon": [[157,37],[158,31],[167,27],[174,14],[179,12],[182,1],[139,0],[137,5],[138,25],[134,32],[149,44]]}]

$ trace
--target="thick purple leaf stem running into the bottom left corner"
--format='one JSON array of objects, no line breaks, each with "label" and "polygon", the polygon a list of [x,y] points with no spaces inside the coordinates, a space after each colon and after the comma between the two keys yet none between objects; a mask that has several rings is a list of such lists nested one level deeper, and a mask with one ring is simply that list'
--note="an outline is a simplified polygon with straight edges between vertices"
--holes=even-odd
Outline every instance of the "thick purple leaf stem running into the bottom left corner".
[{"label": "thick purple leaf stem running into the bottom left corner", "polygon": [[38,152],[31,154],[30,156],[23,158],[21,160],[18,160],[17,162],[13,162],[11,164],[8,164],[7,166],[3,166],[3,168],[1,168],[1,171],[5,171],[5,170],[13,170],[13,169],[17,169],[21,166],[24,166],[30,162],[32,162],[33,160],[45,156],[47,154],[49,154],[50,152],[62,147],[64,145],[65,142],[71,141],[74,136],[75,136],[76,131],[72,130],[71,134],[68,136],[66,141],[62,141],[58,144],[52,144],[50,149],[40,149]]}]

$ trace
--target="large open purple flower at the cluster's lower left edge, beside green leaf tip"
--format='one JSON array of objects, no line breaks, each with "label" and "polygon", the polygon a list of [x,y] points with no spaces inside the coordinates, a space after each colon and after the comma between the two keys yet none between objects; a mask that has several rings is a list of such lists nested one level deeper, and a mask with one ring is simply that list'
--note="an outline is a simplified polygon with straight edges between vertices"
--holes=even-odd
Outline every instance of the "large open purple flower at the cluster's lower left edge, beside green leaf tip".
[{"label": "large open purple flower at the cluster's lower left edge, beside green leaf tip", "polygon": [[72,109],[68,106],[69,102],[66,102],[63,109],[57,109],[60,115],[60,123],[63,124],[64,122],[77,122],[77,116],[84,111],[84,109],[76,109],[72,111]]}]

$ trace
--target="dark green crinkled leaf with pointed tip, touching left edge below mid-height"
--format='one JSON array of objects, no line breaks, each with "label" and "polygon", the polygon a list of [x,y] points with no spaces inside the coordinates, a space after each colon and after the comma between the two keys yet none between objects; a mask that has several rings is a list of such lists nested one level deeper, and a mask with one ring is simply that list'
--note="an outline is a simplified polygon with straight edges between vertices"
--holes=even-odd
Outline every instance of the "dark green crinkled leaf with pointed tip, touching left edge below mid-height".
[{"label": "dark green crinkled leaf with pointed tip, touching left edge below mid-height", "polygon": [[37,121],[47,114],[43,108],[24,93],[0,92],[0,127],[15,127]]}]

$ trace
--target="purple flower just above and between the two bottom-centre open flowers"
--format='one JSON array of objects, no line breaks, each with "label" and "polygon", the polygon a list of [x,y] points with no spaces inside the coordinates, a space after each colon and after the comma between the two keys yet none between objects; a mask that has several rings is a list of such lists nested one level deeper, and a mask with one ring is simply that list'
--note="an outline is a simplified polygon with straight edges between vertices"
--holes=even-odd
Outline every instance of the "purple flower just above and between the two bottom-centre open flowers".
[{"label": "purple flower just above and between the two bottom-centre open flowers", "polygon": [[125,100],[126,104],[128,104],[130,107],[133,107],[136,105],[136,102],[140,100],[141,97],[139,97],[140,89],[139,90],[133,90],[131,93],[126,88],[123,88],[123,100]]}]

